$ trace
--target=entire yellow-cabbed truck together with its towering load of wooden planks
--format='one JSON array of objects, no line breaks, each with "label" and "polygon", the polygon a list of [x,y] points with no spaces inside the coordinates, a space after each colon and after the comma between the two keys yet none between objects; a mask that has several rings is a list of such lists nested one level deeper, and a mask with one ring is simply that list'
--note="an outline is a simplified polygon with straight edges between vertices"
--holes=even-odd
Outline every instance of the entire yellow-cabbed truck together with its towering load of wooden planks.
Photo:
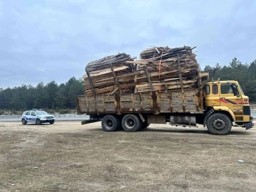
[{"label": "entire yellow-cabbed truck together with its towering load of wooden planks", "polygon": [[[149,124],[201,124],[219,135],[233,126],[251,129],[249,97],[239,82],[213,79],[209,71],[201,71],[193,48],[153,47],[142,51],[141,60],[122,53],[88,63],[85,95],[77,98],[77,112],[90,119],[81,123],[101,121],[105,132],[137,132]],[[127,77],[129,82],[124,81]],[[125,92],[131,83],[134,90]]]}]

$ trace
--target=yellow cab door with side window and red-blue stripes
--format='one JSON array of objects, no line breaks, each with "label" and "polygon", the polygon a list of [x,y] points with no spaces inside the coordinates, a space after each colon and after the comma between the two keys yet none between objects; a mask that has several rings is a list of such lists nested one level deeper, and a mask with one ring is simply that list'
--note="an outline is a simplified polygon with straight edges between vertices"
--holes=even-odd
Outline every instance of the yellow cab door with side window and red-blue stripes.
[{"label": "yellow cab door with side window and red-blue stripes", "polygon": [[220,83],[220,106],[230,108],[235,114],[236,121],[242,121],[242,94],[235,83]]}]

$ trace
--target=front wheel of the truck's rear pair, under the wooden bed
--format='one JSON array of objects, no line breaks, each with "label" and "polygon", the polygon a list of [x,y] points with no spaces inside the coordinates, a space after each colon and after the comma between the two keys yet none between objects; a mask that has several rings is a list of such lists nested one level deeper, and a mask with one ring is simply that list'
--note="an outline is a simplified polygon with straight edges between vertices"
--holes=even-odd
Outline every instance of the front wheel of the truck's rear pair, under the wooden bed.
[{"label": "front wheel of the truck's rear pair, under the wooden bed", "polygon": [[137,132],[142,126],[142,122],[135,114],[126,114],[122,118],[122,128],[126,132]]}]

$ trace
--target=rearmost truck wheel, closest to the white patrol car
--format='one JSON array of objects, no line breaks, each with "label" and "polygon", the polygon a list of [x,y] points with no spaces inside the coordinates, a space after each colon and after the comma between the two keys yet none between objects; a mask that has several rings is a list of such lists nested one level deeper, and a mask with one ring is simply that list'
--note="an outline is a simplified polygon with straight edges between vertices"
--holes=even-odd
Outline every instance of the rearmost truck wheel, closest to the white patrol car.
[{"label": "rearmost truck wheel, closest to the white patrol car", "polygon": [[112,114],[107,114],[102,119],[102,129],[105,132],[115,132],[120,127],[120,120]]}]

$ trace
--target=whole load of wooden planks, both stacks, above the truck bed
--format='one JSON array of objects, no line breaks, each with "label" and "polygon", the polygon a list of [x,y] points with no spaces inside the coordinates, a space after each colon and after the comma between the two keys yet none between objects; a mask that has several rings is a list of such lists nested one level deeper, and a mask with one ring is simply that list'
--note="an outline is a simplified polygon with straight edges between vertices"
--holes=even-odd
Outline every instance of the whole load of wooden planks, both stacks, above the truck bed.
[{"label": "whole load of wooden planks, both stacks, above the truck bed", "polygon": [[189,46],[151,47],[140,53],[139,60],[126,53],[110,55],[88,63],[85,71],[87,96],[197,89],[202,78],[208,78]]}]

